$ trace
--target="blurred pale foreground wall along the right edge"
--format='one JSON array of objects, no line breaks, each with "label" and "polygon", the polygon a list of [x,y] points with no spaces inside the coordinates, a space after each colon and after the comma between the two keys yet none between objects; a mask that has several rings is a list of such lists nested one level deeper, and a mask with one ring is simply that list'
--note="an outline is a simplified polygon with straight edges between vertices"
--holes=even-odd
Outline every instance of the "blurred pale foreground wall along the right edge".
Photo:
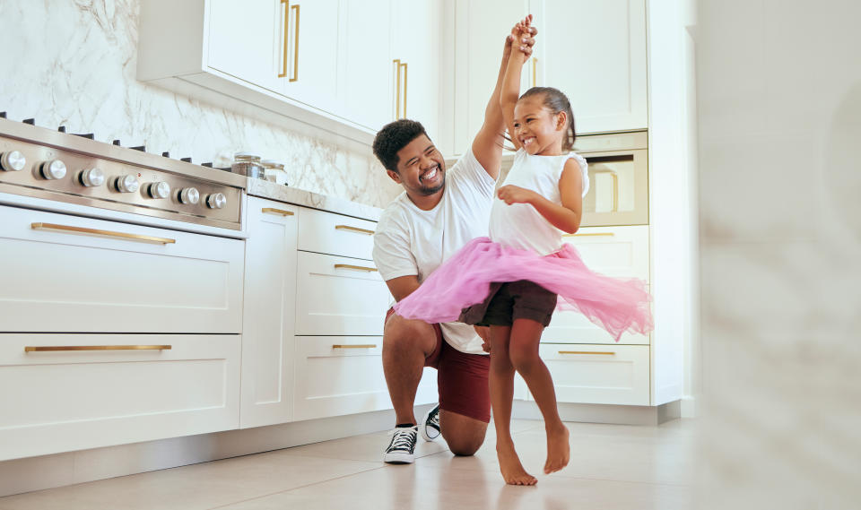
[{"label": "blurred pale foreground wall along the right edge", "polygon": [[861,3],[700,0],[701,508],[861,502]]}]

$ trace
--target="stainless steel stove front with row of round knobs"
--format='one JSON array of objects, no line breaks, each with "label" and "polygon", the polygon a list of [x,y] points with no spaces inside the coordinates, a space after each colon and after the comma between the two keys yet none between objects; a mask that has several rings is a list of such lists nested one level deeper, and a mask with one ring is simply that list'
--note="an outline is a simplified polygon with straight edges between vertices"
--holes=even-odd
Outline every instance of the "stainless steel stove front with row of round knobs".
[{"label": "stainless steel stove front with row of round knobs", "polygon": [[242,229],[247,177],[92,138],[0,113],[0,193]]}]

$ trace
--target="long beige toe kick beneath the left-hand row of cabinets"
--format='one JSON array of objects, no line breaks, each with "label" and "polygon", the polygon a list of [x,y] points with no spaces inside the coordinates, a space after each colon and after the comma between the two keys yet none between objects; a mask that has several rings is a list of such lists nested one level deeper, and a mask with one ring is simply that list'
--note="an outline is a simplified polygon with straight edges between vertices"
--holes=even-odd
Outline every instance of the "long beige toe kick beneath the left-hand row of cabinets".
[{"label": "long beige toe kick beneath the left-hand row of cabinets", "polygon": [[[416,406],[416,415],[431,405]],[[370,434],[394,423],[395,411],[376,411],[4,461],[0,497]]]}]

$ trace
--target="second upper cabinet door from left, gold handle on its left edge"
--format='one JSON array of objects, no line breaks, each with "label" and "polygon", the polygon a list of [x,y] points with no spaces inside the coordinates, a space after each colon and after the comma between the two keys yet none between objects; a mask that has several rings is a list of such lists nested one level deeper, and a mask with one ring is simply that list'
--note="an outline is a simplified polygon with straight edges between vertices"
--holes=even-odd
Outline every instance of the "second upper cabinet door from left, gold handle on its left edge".
[{"label": "second upper cabinet door from left, gold handle on its left edge", "polygon": [[[282,0],[279,53],[286,63],[283,93],[314,108],[338,110],[339,0]],[[287,57],[283,52],[287,51]]]}]

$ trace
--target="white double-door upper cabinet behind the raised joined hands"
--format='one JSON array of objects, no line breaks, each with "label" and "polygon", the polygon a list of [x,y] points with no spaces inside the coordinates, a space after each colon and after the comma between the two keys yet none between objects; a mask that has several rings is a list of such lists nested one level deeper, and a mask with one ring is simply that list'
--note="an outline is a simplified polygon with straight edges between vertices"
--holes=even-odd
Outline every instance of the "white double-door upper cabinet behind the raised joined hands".
[{"label": "white double-door upper cabinet behind the raised joined hands", "polygon": [[[646,0],[455,0],[455,108],[444,125],[453,155],[483,124],[499,70],[502,39],[517,19],[535,15],[534,58],[521,91],[565,92],[578,134],[648,127]],[[467,28],[468,27],[468,28]]]}]

